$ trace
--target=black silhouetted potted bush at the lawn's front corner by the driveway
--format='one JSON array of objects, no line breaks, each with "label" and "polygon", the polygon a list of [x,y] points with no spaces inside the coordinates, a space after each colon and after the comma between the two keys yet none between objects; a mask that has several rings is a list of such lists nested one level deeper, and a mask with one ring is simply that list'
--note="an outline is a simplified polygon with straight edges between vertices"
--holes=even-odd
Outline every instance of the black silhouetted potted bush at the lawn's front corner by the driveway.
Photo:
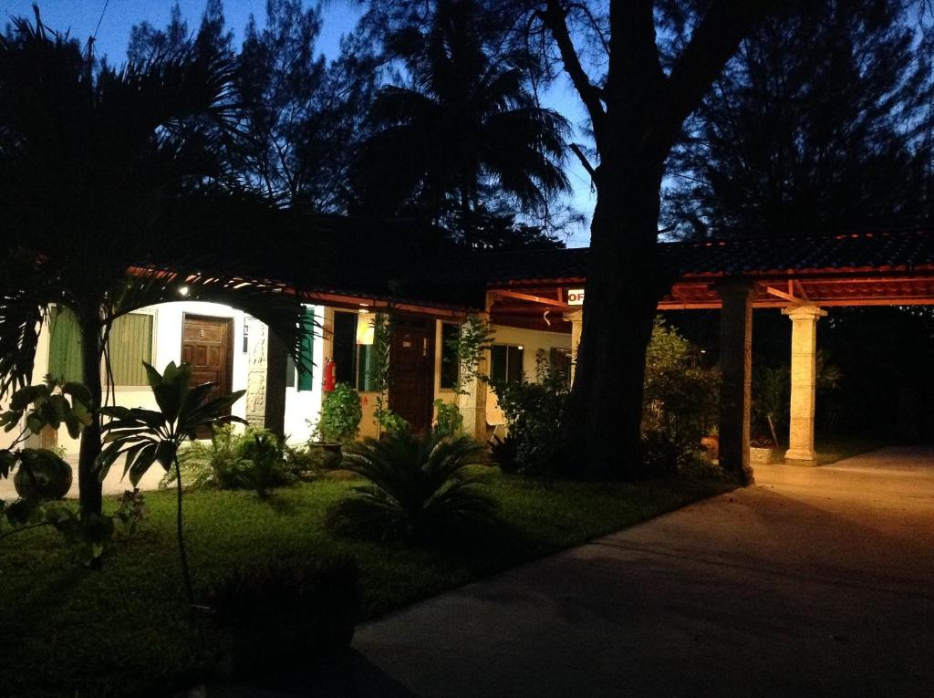
[{"label": "black silhouetted potted bush at the lawn's front corner by the driveway", "polygon": [[360,568],[347,555],[319,562],[278,559],[240,568],[208,592],[233,631],[234,670],[294,670],[346,648],[360,612]]}]

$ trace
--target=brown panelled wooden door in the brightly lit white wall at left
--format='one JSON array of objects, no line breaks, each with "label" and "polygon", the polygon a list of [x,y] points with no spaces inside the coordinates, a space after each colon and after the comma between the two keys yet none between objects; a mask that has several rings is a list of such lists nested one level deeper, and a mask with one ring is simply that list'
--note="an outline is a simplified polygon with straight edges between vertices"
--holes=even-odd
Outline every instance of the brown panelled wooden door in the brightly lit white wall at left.
[{"label": "brown panelled wooden door in the brightly lit white wall at left", "polygon": [[[181,360],[191,364],[191,385],[214,383],[211,397],[231,392],[233,382],[233,321],[186,315],[182,326]],[[205,430],[206,432],[206,430]],[[198,434],[201,437],[210,434]]]}]

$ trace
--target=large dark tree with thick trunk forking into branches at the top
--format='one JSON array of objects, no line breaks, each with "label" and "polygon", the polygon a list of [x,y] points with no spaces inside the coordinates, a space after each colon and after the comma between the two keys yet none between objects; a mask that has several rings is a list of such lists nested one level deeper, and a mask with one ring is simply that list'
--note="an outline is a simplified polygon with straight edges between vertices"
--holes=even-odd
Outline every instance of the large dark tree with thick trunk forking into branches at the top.
[{"label": "large dark tree with thick trunk forking into branches at the top", "polygon": [[[570,81],[592,150],[574,154],[597,195],[590,225],[584,327],[565,441],[581,474],[642,474],[645,349],[659,296],[665,163],[768,0],[478,0],[507,42],[537,50]],[[371,21],[427,19],[432,3],[371,0]],[[429,11],[426,12],[426,8]],[[426,25],[428,22],[425,22]]]}]

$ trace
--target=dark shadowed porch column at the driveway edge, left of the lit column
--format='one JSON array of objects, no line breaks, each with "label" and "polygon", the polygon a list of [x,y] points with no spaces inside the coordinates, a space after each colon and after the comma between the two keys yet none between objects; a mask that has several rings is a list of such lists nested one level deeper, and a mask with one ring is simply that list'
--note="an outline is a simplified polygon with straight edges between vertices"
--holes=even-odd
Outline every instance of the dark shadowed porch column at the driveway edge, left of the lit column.
[{"label": "dark shadowed porch column at the driveway edge, left of the lit column", "polygon": [[728,281],[716,287],[720,312],[720,465],[743,484],[754,481],[749,466],[752,405],[753,283]]}]

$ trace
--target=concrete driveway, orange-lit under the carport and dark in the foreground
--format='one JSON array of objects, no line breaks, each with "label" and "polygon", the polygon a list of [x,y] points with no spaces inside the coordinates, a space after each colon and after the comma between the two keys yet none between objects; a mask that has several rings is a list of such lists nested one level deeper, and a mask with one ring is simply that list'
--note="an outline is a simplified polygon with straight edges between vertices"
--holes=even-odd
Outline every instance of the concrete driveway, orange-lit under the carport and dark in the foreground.
[{"label": "concrete driveway, orange-lit under the carport and dark in the foreground", "polygon": [[355,648],[347,694],[934,695],[934,450],[760,467]]}]

